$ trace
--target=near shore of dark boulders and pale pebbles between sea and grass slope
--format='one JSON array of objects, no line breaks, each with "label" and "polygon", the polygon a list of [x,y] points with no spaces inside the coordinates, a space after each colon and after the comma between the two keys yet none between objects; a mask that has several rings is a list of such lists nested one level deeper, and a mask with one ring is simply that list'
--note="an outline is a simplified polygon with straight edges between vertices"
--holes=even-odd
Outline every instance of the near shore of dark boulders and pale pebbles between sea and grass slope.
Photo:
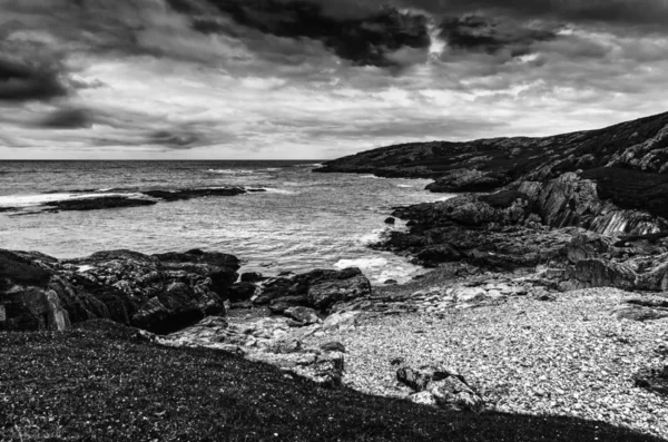
[{"label": "near shore of dark boulders and pale pebbles between sea and grass slope", "polygon": [[[568,256],[581,244],[563,247]],[[668,436],[661,293],[572,291],[553,268],[498,272],[466,259],[380,287],[356,268],[272,278],[238,269],[234,256],[202,251],[65,261],[1,251],[0,330],[106,318],[137,327],[140,340],[233,352],[326,387]]]}]

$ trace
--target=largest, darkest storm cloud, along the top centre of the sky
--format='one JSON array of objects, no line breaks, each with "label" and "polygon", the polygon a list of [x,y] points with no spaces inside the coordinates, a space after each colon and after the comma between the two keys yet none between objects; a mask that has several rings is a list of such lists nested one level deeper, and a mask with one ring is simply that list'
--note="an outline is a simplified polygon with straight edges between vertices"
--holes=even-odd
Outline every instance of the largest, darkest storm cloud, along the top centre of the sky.
[{"label": "largest, darkest storm cloud, along the top centre of the sky", "polygon": [[[237,24],[265,35],[321,41],[340,58],[360,66],[401,65],[391,53],[402,48],[426,49],[430,38],[426,18],[392,8],[380,9],[364,18],[338,19],[326,16],[310,1],[207,0]],[[194,3],[168,0],[179,12],[196,14]],[[233,35],[228,26],[195,17],[193,29],[203,33]]]}]

